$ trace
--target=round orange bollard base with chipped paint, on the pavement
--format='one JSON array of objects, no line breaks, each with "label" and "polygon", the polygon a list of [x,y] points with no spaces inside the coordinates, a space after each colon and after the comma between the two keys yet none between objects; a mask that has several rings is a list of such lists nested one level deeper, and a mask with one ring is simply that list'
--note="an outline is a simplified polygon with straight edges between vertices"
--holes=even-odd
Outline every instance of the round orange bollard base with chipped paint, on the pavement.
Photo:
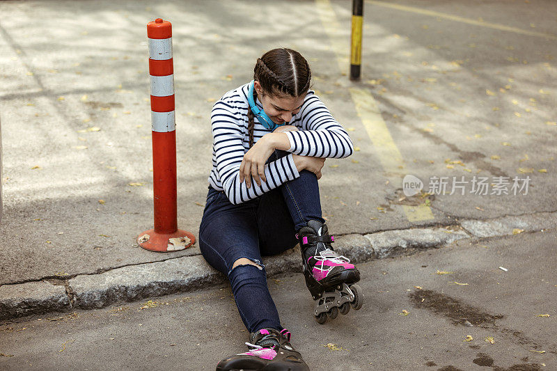
[{"label": "round orange bollard base with chipped paint, on the pavement", "polygon": [[196,237],[185,230],[173,233],[159,233],[154,229],[146,230],[137,237],[137,244],[149,251],[172,253],[188,248],[196,243]]}]

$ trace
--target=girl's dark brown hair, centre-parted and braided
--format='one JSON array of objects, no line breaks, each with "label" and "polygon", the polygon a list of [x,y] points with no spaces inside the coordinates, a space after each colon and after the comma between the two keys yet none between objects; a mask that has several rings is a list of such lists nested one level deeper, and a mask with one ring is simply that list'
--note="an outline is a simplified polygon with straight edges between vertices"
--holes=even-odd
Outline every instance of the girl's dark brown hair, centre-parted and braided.
[{"label": "girl's dark brown hair, centre-parted and braided", "polygon": [[[292,49],[272,49],[257,58],[253,68],[253,79],[269,95],[290,95],[299,97],[310,88],[311,70],[306,58]],[[256,100],[257,92],[253,93]],[[249,147],[253,145],[253,112],[248,108]]]}]

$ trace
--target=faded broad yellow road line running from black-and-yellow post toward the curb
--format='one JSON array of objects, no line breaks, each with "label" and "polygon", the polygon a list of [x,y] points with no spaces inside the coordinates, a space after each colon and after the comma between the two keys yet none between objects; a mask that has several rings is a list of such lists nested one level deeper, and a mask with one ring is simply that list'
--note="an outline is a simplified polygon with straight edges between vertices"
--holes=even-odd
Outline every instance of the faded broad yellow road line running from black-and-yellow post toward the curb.
[{"label": "faded broad yellow road line running from black-and-yellow post toward the curb", "polygon": [[[329,35],[331,47],[336,54],[338,68],[341,71],[347,71],[350,63],[347,55],[350,45],[348,45],[347,38],[338,37],[342,33],[340,32],[340,25],[336,19],[331,2],[329,0],[315,0],[315,3],[317,4],[317,13],[320,16],[323,28],[327,35]],[[384,171],[388,174],[387,177],[393,184],[400,182],[402,175],[404,175],[404,160],[381,116],[375,99],[373,99],[368,90],[361,88],[350,88],[350,95],[356,106],[358,116],[361,118],[363,127],[366,128],[366,132],[374,145],[377,157],[379,157]],[[409,221],[434,219],[430,207],[426,205],[419,207],[403,206],[402,210],[405,211]]]}]

